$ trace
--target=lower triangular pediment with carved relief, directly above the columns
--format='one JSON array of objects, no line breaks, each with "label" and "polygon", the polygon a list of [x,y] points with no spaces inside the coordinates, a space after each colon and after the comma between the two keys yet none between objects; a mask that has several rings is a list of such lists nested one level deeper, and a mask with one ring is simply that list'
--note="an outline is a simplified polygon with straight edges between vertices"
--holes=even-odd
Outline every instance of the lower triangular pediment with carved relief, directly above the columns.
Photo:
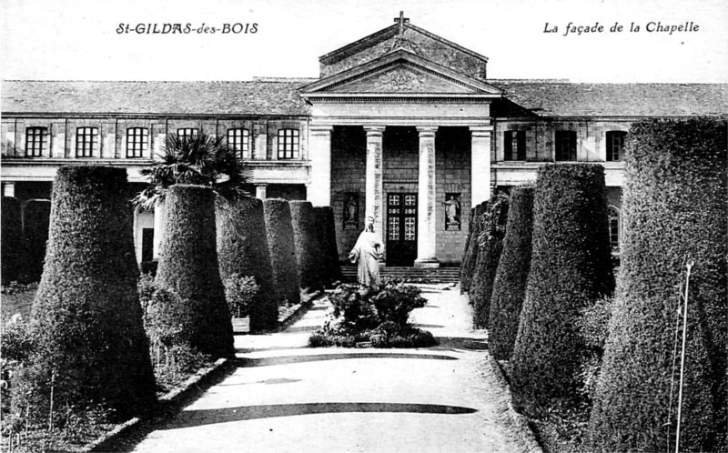
[{"label": "lower triangular pediment with carved relief, directly above the columns", "polygon": [[303,96],[501,96],[501,89],[404,49],[301,88]]}]

